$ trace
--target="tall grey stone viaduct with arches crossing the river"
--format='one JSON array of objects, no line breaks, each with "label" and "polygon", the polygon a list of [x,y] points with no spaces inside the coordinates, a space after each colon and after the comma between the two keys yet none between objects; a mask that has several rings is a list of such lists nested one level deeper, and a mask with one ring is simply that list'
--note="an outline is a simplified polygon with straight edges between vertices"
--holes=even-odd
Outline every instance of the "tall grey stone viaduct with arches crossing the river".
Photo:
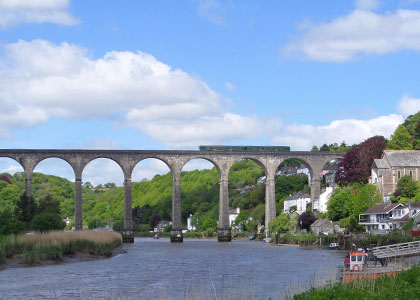
[{"label": "tall grey stone viaduct with arches crossing the river", "polygon": [[311,174],[311,199],[316,207],[320,195],[320,172],[322,167],[333,159],[341,159],[343,152],[237,152],[237,151],[176,151],[176,150],[35,150],[0,149],[0,157],[16,160],[26,174],[26,194],[32,195],[32,173],[38,163],[47,158],[60,158],[70,164],[75,174],[75,229],[83,229],[82,220],[82,172],[94,159],[108,158],[115,161],[124,174],[124,232],[123,239],[132,242],[132,199],[131,174],[140,161],[155,158],[163,161],[172,172],[172,242],[182,242],[181,231],[181,170],[192,159],[205,159],[217,168],[220,175],[219,196],[219,241],[230,241],[228,175],[232,165],[241,159],[251,159],[265,172],[265,228],[276,217],[274,176],[279,165],[287,159],[301,160]]}]

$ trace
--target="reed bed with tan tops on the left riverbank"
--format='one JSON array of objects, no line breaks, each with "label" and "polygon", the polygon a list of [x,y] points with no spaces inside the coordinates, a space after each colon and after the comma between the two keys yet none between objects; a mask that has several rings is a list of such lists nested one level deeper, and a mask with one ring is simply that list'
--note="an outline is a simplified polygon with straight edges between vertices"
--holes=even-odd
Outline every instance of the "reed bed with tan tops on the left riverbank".
[{"label": "reed bed with tan tops on the left riverbank", "polygon": [[11,261],[34,266],[61,263],[69,257],[111,257],[120,245],[119,233],[100,230],[0,236],[0,269]]}]

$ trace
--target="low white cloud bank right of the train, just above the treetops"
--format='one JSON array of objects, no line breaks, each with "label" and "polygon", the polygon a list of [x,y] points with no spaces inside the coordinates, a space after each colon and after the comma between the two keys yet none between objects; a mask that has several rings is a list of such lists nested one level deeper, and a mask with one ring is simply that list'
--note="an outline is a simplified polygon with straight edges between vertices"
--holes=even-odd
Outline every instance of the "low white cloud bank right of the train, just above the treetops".
[{"label": "low white cloud bank right of the train, just above the treetops", "polygon": [[289,145],[292,150],[309,150],[313,145],[342,141],[352,145],[375,135],[389,138],[403,121],[402,116],[391,114],[370,120],[336,120],[324,126],[292,124],[285,126],[273,138],[273,142],[277,145]]}]

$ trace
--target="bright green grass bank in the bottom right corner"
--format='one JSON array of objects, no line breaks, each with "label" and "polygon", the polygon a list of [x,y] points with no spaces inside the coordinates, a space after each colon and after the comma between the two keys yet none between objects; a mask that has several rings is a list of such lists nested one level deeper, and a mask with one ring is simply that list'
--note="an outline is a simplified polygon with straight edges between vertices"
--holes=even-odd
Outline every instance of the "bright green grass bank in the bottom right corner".
[{"label": "bright green grass bank in the bottom right corner", "polygon": [[312,288],[294,295],[293,300],[406,300],[420,299],[420,267],[415,266],[395,277],[360,279],[350,283],[335,283],[322,288]]}]

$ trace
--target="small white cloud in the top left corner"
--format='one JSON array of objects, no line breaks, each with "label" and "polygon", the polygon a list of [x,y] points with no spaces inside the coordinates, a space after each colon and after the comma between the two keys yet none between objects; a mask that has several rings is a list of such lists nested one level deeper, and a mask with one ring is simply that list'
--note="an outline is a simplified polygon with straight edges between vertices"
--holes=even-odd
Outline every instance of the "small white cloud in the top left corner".
[{"label": "small white cloud in the top left corner", "polygon": [[78,21],[68,5],[69,0],[0,0],[0,28],[45,22],[75,25]]}]

